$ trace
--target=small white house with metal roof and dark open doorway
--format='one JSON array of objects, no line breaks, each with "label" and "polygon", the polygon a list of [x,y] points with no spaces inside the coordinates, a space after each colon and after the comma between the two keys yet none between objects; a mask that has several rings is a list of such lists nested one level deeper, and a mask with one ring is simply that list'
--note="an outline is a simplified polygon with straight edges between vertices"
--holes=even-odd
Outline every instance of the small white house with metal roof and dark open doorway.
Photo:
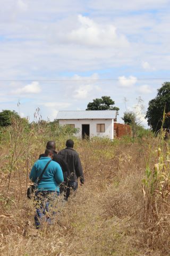
[{"label": "small white house with metal roof and dark open doorway", "polygon": [[83,110],[83,111],[58,111],[56,119],[60,125],[69,125],[79,128],[76,134],[79,138],[108,137],[114,138],[115,110]]}]

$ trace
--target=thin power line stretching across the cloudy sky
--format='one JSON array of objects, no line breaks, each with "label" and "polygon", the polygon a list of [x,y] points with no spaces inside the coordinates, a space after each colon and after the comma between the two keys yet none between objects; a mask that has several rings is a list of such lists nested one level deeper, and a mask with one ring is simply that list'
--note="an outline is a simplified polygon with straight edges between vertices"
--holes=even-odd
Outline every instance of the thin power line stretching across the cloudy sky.
[{"label": "thin power line stretching across the cloudy sky", "polygon": [[106,79],[0,79],[0,82],[100,82],[100,81],[156,81],[156,80],[170,80],[170,78],[106,78]]}]

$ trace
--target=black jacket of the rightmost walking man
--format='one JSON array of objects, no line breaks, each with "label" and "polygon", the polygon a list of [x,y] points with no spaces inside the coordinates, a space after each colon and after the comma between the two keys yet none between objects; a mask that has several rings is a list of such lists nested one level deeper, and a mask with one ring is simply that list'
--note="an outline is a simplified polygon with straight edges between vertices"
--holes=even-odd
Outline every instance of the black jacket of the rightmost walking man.
[{"label": "black jacket of the rightmost walking man", "polygon": [[76,181],[80,178],[80,182],[84,183],[83,169],[79,154],[73,148],[65,148],[58,152],[58,155],[64,157],[65,162],[70,169],[70,180]]}]

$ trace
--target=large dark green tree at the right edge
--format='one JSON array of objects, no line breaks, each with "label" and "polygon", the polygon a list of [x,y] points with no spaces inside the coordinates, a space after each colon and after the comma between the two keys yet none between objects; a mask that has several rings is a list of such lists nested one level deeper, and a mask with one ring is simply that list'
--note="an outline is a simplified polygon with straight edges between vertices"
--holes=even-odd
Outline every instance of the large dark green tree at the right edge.
[{"label": "large dark green tree at the right edge", "polygon": [[149,107],[146,117],[148,119],[148,125],[152,131],[157,132],[162,127],[163,114],[165,109],[165,122],[163,124],[164,129],[170,127],[170,82],[165,82],[162,87],[158,89],[158,93],[155,99],[149,101]]}]

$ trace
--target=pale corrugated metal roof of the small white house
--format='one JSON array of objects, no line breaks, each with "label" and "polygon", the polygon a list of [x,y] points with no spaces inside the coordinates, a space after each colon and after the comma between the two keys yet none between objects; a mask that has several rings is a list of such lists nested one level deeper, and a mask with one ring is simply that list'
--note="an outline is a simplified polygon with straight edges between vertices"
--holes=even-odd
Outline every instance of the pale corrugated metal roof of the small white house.
[{"label": "pale corrugated metal roof of the small white house", "polygon": [[116,110],[58,111],[56,119],[116,119]]}]

